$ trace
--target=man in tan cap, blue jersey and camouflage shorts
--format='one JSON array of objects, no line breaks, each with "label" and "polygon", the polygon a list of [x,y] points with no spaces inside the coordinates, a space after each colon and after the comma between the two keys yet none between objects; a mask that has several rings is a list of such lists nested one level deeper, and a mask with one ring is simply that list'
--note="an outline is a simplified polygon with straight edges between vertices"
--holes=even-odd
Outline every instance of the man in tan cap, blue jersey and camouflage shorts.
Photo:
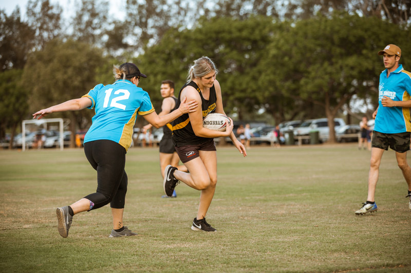
[{"label": "man in tan cap, blue jersey and camouflage shorts", "polygon": [[411,168],[407,163],[407,151],[411,136],[411,73],[405,71],[398,62],[401,49],[396,45],[388,45],[378,52],[383,55],[385,70],[380,74],[379,106],[372,114],[375,126],[372,132],[371,160],[368,174],[368,196],[356,214],[377,211],[375,191],[379,176],[379,168],[384,150],[388,147],[395,151],[398,166],[408,185],[411,209]]}]

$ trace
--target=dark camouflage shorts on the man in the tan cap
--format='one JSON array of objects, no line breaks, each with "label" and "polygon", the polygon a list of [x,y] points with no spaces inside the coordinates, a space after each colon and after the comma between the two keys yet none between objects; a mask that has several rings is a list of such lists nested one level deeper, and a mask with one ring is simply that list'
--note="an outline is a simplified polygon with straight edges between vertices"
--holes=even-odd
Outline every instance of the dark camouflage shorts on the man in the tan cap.
[{"label": "dark camouflage shorts on the man in the tan cap", "polygon": [[410,136],[410,132],[385,134],[372,131],[371,147],[384,150],[388,150],[389,147],[398,153],[405,153],[409,151]]}]

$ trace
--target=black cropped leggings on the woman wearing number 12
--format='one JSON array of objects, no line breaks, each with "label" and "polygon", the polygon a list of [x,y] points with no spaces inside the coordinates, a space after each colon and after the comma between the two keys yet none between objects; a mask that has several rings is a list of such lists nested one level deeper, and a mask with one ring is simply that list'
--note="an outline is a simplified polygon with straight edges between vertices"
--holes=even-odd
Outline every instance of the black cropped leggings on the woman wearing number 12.
[{"label": "black cropped leggings on the woman wearing number 12", "polygon": [[91,209],[108,203],[112,208],[124,208],[127,192],[124,147],[111,140],[95,140],[84,143],[84,153],[97,170],[97,191],[84,197],[94,203]]}]

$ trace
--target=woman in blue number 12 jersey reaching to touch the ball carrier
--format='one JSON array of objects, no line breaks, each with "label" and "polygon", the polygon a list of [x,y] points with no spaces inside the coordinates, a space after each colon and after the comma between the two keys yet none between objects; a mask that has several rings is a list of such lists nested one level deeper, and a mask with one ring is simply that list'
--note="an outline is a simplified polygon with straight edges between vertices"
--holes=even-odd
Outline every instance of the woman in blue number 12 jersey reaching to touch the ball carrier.
[{"label": "woman in blue number 12 jersey reaching to touch the ball carrier", "polygon": [[[132,63],[114,66],[116,81],[104,86],[97,85],[86,95],[40,110],[33,118],[41,119],[47,114],[95,109],[96,115],[84,137],[84,152],[91,166],[97,170],[97,191],[79,201],[57,208],[58,230],[62,237],[68,236],[72,217],[110,203],[113,214],[113,230],[109,237],[133,236],[123,226],[127,175],[124,171],[125,154],[132,142],[133,126],[137,115],[159,128],[182,114],[196,111],[197,102],[183,103],[175,111],[159,117],[148,93],[137,87],[140,77],[146,78]],[[182,102],[185,102],[182,101]]]}]

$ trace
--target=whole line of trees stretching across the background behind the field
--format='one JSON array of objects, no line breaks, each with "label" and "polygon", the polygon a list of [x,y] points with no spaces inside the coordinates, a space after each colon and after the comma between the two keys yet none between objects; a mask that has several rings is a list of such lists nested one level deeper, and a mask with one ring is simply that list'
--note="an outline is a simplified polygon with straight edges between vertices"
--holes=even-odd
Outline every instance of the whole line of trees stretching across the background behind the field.
[{"label": "whole line of trees stretching across the background behind the field", "polygon": [[[66,25],[62,8],[48,0],[30,0],[25,20],[18,8],[0,10],[0,138],[35,110],[112,83],[113,64],[125,61],[148,75],[139,86],[157,110],[161,81],[174,80],[177,93],[194,59],[206,55],[219,69],[229,115],[276,124],[326,116],[331,129],[343,109],[355,112],[353,100],[378,103],[379,50],[397,44],[400,62],[411,66],[407,2],[202,3],[127,0],[120,22],[109,18],[107,1],[81,0]],[[54,115],[70,118],[74,135],[89,127],[91,112]]]}]

